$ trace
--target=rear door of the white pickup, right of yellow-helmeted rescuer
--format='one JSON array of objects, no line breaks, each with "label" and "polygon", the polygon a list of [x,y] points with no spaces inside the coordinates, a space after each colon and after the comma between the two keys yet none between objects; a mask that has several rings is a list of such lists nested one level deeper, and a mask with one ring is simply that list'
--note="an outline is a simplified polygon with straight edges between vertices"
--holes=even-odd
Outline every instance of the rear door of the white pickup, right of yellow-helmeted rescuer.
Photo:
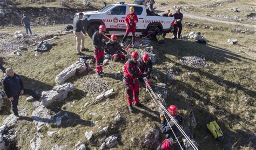
[{"label": "rear door of the white pickup, right of yellow-helmeted rescuer", "polygon": [[146,20],[146,16],[143,13],[143,8],[141,6],[133,6],[134,12],[138,16],[138,23],[136,24],[137,26],[137,32],[140,32],[141,30],[144,29],[144,24]]}]

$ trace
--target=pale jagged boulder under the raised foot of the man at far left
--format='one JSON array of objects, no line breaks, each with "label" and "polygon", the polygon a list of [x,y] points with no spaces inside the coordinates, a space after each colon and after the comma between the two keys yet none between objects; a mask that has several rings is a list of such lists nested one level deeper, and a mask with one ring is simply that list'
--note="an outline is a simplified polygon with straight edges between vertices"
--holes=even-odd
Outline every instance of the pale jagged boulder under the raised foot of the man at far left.
[{"label": "pale jagged boulder under the raised foot of the man at far left", "polygon": [[75,90],[76,86],[71,83],[57,85],[50,91],[42,92],[42,101],[44,106],[51,106],[55,101],[60,102],[68,97],[68,93]]}]

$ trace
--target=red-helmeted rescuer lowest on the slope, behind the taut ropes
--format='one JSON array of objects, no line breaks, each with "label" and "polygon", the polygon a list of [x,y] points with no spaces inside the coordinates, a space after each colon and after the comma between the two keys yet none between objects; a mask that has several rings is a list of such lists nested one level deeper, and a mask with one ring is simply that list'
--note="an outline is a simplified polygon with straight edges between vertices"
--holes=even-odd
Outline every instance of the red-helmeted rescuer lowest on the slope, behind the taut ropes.
[{"label": "red-helmeted rescuer lowest on the slope, behind the taut ropes", "polygon": [[[171,105],[170,107],[168,107],[167,110],[179,125],[183,124],[183,118],[180,115],[178,115],[178,108],[175,105]],[[160,127],[161,133],[166,134],[166,139],[158,146],[157,149],[167,150],[167,149],[170,149],[170,147],[178,147],[179,144],[177,139],[179,140],[179,142],[181,141],[182,133],[179,131],[178,127],[174,124],[174,122],[171,119],[166,120],[164,118],[163,113],[160,114],[160,119],[161,119],[161,127]],[[176,135],[177,139],[172,131]]]}]

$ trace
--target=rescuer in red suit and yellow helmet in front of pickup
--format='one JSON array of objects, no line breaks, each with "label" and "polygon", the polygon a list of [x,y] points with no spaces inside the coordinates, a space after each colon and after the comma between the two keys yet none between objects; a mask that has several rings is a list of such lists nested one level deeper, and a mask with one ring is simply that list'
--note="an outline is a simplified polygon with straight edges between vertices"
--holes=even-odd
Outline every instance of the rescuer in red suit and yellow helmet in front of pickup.
[{"label": "rescuer in red suit and yellow helmet in front of pickup", "polygon": [[129,35],[129,33],[132,31],[132,46],[135,42],[135,30],[136,30],[136,23],[138,22],[138,17],[136,13],[134,13],[133,6],[130,7],[130,13],[128,13],[125,17],[125,25],[126,25],[126,33],[124,35],[124,38],[122,39],[121,46],[124,46],[124,42]]}]

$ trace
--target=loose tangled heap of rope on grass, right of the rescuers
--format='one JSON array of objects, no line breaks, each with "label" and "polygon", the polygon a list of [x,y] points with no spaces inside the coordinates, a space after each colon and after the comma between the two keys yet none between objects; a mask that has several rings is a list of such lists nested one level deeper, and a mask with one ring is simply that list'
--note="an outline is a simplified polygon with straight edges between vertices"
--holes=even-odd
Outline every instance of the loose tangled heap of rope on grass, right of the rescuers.
[{"label": "loose tangled heap of rope on grass, right of the rescuers", "polygon": [[208,64],[205,62],[204,56],[199,56],[198,54],[194,56],[184,56],[177,58],[178,62],[181,62],[183,65],[189,65],[193,67],[207,67]]}]

